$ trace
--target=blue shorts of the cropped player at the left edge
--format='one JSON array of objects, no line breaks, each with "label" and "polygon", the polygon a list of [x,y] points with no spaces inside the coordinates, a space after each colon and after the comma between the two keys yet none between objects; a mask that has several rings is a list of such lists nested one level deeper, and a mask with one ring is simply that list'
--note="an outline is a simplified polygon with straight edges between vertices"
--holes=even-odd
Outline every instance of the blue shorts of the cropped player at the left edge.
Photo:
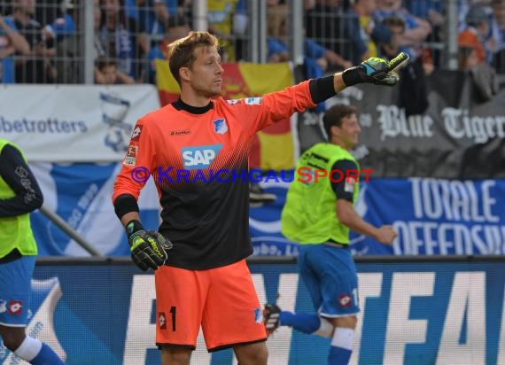
[{"label": "blue shorts of the cropped player at the left edge", "polygon": [[0,324],[26,327],[35,256],[0,264]]}]

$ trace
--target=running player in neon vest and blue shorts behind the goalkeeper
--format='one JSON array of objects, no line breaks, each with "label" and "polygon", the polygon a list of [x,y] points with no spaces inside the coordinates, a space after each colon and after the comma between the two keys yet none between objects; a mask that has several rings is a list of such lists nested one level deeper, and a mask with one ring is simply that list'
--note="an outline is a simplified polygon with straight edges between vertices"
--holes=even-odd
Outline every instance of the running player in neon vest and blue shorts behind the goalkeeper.
[{"label": "running player in neon vest and blue shorts behind the goalkeeper", "polygon": [[349,250],[349,229],[392,245],[391,226],[376,228],[354,210],[359,192],[360,167],[350,153],[361,132],[351,105],[334,105],[323,117],[328,143],[315,144],[297,164],[282,214],[282,232],[298,241],[299,274],[317,314],[265,307],[268,333],[291,326],[308,334],[331,338],[329,365],[351,358],[358,304],[358,276]]}]

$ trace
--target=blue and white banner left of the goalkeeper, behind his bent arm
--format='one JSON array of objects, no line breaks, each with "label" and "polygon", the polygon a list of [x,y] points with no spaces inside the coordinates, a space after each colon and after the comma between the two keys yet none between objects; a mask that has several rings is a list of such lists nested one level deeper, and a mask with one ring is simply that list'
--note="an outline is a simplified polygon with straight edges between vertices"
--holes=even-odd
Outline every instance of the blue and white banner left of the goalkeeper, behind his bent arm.
[{"label": "blue and white banner left of the goalkeeper, behind his bent arm", "polygon": [[[112,200],[113,183],[120,167],[120,162],[30,164],[43,190],[44,206],[105,256],[129,255],[126,234],[114,213]],[[157,229],[159,199],[151,180],[138,204],[144,227]],[[40,255],[89,256],[42,213],[32,214],[31,221]]]}]

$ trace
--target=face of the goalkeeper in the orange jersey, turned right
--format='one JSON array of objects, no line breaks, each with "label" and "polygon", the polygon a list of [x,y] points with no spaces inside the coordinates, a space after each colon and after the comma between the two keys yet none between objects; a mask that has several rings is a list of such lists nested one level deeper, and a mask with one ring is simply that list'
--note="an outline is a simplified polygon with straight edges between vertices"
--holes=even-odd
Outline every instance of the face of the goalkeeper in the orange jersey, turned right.
[{"label": "face of the goalkeeper in the orange jersey, turned right", "polygon": [[196,59],[188,67],[191,88],[202,97],[221,95],[224,70],[218,51],[213,46],[200,46],[194,52]]}]

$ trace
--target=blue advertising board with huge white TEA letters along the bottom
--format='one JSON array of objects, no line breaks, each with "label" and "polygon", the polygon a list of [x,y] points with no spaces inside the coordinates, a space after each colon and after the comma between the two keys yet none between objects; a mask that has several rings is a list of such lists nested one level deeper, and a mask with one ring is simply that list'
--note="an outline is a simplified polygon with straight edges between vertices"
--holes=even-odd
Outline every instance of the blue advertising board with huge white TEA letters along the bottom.
[{"label": "blue advertising board with huge white TEA letters along the bottom", "polygon": [[[260,303],[314,312],[295,264],[250,263]],[[505,266],[498,261],[369,263],[358,259],[361,315],[351,364],[505,363]],[[68,365],[157,365],[154,277],[130,265],[37,265],[27,332]],[[168,318],[170,320],[170,318]],[[275,365],[323,365],[330,338],[281,327],[268,338]],[[18,364],[0,346],[0,364]],[[237,365],[230,350],[191,364]]]}]

